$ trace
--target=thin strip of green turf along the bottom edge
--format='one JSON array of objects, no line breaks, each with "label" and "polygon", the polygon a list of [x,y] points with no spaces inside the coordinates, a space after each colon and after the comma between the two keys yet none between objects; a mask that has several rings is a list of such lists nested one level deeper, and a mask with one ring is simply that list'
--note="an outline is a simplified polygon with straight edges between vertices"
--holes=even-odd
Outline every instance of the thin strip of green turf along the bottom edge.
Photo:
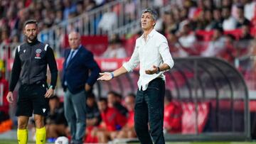
[{"label": "thin strip of green turf along the bottom edge", "polygon": [[[34,144],[35,142],[28,142],[28,144]],[[0,140],[0,144],[17,144],[16,140]],[[53,144],[53,143],[48,143]],[[119,143],[121,144],[121,143]],[[139,143],[129,143],[139,144]],[[256,142],[169,142],[166,144],[256,144]]]}]

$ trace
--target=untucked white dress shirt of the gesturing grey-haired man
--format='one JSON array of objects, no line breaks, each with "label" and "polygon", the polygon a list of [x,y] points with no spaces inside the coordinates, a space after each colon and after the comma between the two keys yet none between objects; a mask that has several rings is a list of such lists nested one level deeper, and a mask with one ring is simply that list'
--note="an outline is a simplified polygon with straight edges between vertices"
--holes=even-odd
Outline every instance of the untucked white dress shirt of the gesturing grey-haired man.
[{"label": "untucked white dress shirt of the gesturing grey-haired man", "polygon": [[156,30],[152,30],[147,36],[146,42],[144,35],[137,38],[134,52],[131,59],[125,62],[123,67],[128,71],[132,71],[139,65],[139,89],[146,90],[151,80],[156,77],[161,77],[165,80],[164,72],[158,74],[146,74],[145,70],[151,70],[153,65],[159,67],[162,64],[174,66],[174,60],[171,57],[169,46],[164,35],[161,35]]}]

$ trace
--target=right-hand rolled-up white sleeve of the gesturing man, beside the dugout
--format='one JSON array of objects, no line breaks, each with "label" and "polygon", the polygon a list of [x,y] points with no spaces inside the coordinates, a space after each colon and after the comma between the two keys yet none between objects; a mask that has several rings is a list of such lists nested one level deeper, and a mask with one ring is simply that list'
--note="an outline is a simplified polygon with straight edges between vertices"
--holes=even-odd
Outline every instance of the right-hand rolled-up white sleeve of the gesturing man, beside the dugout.
[{"label": "right-hand rolled-up white sleeve of the gesturing man, beside the dugout", "polygon": [[163,59],[163,63],[166,65],[169,65],[170,69],[171,67],[174,67],[174,60],[171,57],[171,53],[169,50],[169,45],[167,43],[166,38],[161,38],[161,43],[159,45],[159,53]]}]

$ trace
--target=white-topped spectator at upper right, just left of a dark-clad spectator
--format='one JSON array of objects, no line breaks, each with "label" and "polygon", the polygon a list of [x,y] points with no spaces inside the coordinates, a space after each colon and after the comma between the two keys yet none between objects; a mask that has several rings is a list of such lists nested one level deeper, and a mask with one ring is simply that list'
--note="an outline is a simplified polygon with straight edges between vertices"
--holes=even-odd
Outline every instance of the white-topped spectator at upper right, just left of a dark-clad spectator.
[{"label": "white-topped spectator at upper right, just left of a dark-clad spectator", "polygon": [[234,30],[237,26],[238,21],[236,21],[235,18],[231,16],[230,7],[223,7],[222,16],[224,18],[223,30],[224,31]]}]

